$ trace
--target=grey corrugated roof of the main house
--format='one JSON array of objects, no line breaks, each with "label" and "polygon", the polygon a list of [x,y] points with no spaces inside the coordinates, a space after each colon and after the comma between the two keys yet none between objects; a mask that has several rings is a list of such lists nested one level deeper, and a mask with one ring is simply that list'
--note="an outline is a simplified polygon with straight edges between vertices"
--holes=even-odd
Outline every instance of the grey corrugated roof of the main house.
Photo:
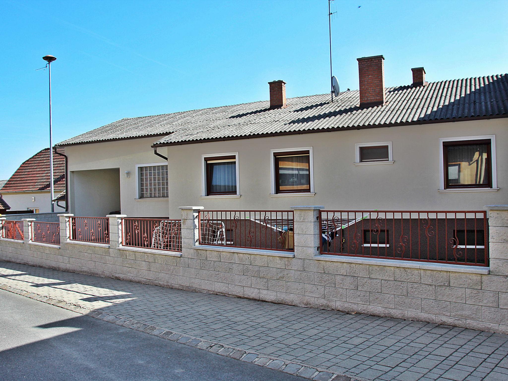
[{"label": "grey corrugated roof of the main house", "polygon": [[91,143],[133,137],[167,136],[155,145],[266,134],[366,128],[394,124],[508,116],[508,74],[430,82],[386,89],[382,106],[360,108],[359,91],[288,99],[288,107],[269,109],[269,101],[172,114],[125,118],[59,143]]}]

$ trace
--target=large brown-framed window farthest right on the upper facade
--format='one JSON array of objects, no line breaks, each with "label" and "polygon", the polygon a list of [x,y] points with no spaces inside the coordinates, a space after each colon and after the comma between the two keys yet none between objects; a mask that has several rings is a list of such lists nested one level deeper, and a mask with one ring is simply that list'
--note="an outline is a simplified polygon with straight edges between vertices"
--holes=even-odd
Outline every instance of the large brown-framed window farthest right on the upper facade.
[{"label": "large brown-framed window farthest right on the upper facade", "polygon": [[491,140],[443,141],[444,185],[491,188]]}]

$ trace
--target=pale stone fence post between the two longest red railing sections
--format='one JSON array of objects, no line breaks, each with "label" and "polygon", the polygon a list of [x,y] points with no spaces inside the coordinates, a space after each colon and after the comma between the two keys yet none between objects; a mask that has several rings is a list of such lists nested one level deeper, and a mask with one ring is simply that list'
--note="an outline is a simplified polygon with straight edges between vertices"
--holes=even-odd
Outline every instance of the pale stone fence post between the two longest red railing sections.
[{"label": "pale stone fence post between the two longest red railing sections", "polygon": [[295,235],[295,258],[311,259],[319,255],[321,227],[319,214],[324,206],[292,206]]}]

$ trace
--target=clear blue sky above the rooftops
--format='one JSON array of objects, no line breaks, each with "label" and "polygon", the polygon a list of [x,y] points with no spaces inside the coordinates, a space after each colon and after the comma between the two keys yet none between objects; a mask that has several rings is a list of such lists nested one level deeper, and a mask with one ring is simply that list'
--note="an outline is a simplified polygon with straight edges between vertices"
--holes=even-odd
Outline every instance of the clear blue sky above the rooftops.
[{"label": "clear blue sky above the rooftops", "polygon": [[[508,72],[508,1],[335,0],[333,72],[358,88],[356,58],[383,54],[386,85]],[[361,6],[358,8],[358,6]],[[327,0],[0,0],[0,179],[53,141],[124,118],[329,91]]]}]

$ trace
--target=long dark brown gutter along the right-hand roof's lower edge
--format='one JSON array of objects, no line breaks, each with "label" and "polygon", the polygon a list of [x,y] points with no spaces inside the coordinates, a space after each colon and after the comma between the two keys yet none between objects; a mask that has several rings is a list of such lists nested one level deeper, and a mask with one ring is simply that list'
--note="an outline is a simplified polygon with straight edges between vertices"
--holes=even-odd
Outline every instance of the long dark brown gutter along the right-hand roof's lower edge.
[{"label": "long dark brown gutter along the right-hand roof's lower edge", "polygon": [[505,114],[505,115],[487,115],[487,116],[471,116],[471,117],[467,117],[467,118],[456,118],[456,119],[418,120],[418,121],[413,121],[413,122],[372,124],[372,125],[360,125],[360,126],[350,126],[350,127],[331,127],[331,128],[327,128],[327,129],[302,130],[302,131],[284,131],[284,132],[273,132],[273,133],[267,133],[267,134],[255,134],[255,135],[245,135],[245,136],[230,136],[230,137],[225,137],[225,138],[187,140],[187,141],[181,141],[181,142],[153,144],[152,148],[156,149],[156,148],[160,148],[160,147],[169,147],[169,146],[173,146],[173,145],[208,143],[208,142],[223,142],[223,141],[227,141],[227,140],[269,138],[269,137],[272,137],[272,136],[316,134],[316,133],[321,133],[321,132],[334,132],[334,131],[342,131],[342,130],[365,130],[365,129],[377,129],[377,128],[397,127],[397,126],[404,126],[404,125],[420,125],[420,124],[433,124],[433,123],[453,123],[453,122],[462,122],[462,121],[470,121],[470,120],[488,120],[488,119],[498,119],[498,118],[508,118],[508,114]]}]

